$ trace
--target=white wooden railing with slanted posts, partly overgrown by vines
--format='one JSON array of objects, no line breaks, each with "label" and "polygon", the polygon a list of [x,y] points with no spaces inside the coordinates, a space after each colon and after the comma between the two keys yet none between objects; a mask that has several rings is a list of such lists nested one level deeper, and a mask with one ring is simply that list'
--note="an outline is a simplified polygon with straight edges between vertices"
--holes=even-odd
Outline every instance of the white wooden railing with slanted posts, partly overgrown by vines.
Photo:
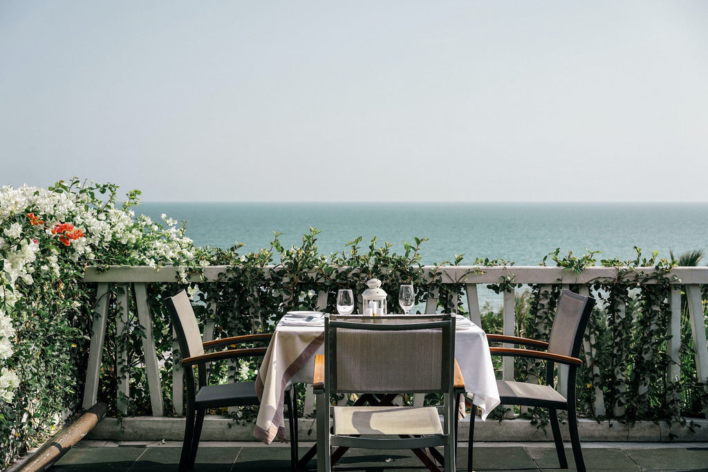
[{"label": "white wooden railing with slanted posts, partly overgrown by vines", "polygon": [[[265,270],[272,270],[273,267],[266,267]],[[226,270],[226,267],[205,267],[202,275],[194,276],[194,282],[207,284],[214,282],[217,277]],[[442,277],[442,284],[464,284],[464,293],[467,297],[467,307],[469,316],[478,325],[480,323],[478,287],[486,289],[487,284],[499,284],[504,280],[513,280],[515,284],[542,284],[549,287],[561,285],[564,287],[573,285],[578,287],[581,294],[588,294],[590,286],[595,282],[612,284],[618,281],[627,284],[636,280],[641,289],[643,284],[656,284],[656,277],[652,277],[656,271],[653,267],[588,267],[580,273],[564,270],[562,267],[515,267],[515,266],[495,266],[495,267],[423,267],[423,273],[428,275],[435,272]],[[162,267],[156,270],[152,267],[110,267],[109,270],[96,270],[95,267],[88,267],[84,276],[85,282],[97,283],[96,318],[93,323],[93,333],[91,334],[91,345],[89,351],[89,364],[86,372],[86,387],[84,391],[84,408],[89,408],[96,403],[98,395],[98,382],[101,372],[101,359],[103,344],[108,326],[108,316],[115,316],[115,326],[118,333],[125,333],[127,312],[120,307],[129,306],[128,297],[134,296],[137,306],[137,316],[139,323],[145,328],[142,346],[144,350],[145,369],[149,384],[149,393],[152,404],[152,414],[163,415],[163,398],[160,387],[158,353],[152,336],[152,315],[147,301],[147,291],[145,284],[152,282],[169,283],[177,281],[177,269],[175,267]],[[708,384],[708,347],[706,343],[706,326],[704,309],[701,297],[701,284],[708,284],[708,267],[676,267],[670,272],[670,323],[667,354],[673,361],[670,363],[666,376],[668,379],[676,379],[680,374],[680,328],[681,328],[681,292],[687,294],[688,309],[690,316],[690,328],[692,330],[693,345],[695,348],[695,364],[698,381]],[[115,304],[109,304],[107,294],[111,286],[117,285],[124,289],[118,291],[118,299]],[[208,292],[208,288],[205,287]],[[517,289],[518,290],[518,289]],[[515,329],[515,292],[504,292],[503,294],[503,333],[513,335]],[[328,294],[326,291],[319,292],[318,309],[326,306]],[[438,294],[430,294],[430,299],[426,303],[426,313],[434,313],[438,306]],[[109,306],[115,306],[115,313],[108,313]],[[457,300],[453,300],[452,306],[457,306]],[[625,312],[625,306],[619,306],[621,313]],[[205,326],[203,336],[205,340],[210,340],[213,336],[213,323]],[[593,333],[590,333],[592,336]],[[118,345],[116,352],[117,359],[125,359],[125,347]],[[586,345],[586,363],[593,366],[593,350],[590,345]],[[506,359],[505,359],[506,360]],[[178,364],[177,364],[178,365]],[[598,369],[598,367],[593,367]],[[512,362],[503,364],[503,377],[513,379],[514,366]],[[130,398],[128,388],[129,382],[118,376],[118,410],[127,413],[127,402],[123,398]],[[176,413],[181,413],[183,409],[183,379],[181,371],[175,369],[173,372],[173,405]],[[312,410],[312,399],[306,396],[305,412]],[[596,388],[595,404],[593,405],[595,415],[605,414],[605,402],[603,391]],[[708,413],[708,412],[704,412]]]}]

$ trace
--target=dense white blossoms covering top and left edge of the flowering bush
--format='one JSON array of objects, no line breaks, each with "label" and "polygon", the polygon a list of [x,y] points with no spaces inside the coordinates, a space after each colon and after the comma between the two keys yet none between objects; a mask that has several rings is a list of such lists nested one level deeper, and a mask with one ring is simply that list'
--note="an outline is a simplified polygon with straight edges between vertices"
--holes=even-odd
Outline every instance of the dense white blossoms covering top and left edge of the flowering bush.
[{"label": "dense white blossoms covering top and left edge of the flowering bush", "polygon": [[[6,365],[15,338],[10,315],[22,296],[16,282],[33,284],[35,270],[62,277],[62,251],[74,262],[152,267],[179,265],[197,257],[193,241],[166,215],[164,224],[158,225],[144,215],[136,218],[130,209],[99,204],[85,192],[26,185],[0,188],[0,402],[11,401],[18,386],[16,372]],[[35,216],[35,224],[28,214]],[[72,224],[83,236],[72,238],[67,246],[47,244],[47,250],[40,251],[43,241],[57,238],[52,229],[60,224]]]}]

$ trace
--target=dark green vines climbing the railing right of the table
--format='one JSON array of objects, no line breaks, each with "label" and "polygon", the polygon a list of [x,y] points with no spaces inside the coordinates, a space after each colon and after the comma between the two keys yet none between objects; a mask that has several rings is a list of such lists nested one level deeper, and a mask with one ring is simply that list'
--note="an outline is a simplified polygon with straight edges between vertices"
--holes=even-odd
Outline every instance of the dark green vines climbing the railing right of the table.
[{"label": "dark green vines climbing the railing right of the table", "polygon": [[[586,287],[598,299],[586,332],[587,352],[581,354],[587,362],[578,370],[578,411],[595,416],[596,388],[603,392],[605,415],[598,420],[612,418],[634,424],[639,420],[674,420],[688,427],[695,427],[691,417],[702,416],[708,411],[708,391],[697,379],[695,352],[693,350],[687,308],[683,306],[681,322],[680,376],[668,379],[670,366],[668,348],[668,322],[670,319],[671,274],[675,260],[658,260],[656,252],[650,258],[635,248],[634,260],[602,260],[607,267],[622,267],[617,280],[588,282]],[[576,258],[572,253],[559,256],[556,249],[550,253],[559,267],[576,273],[594,265],[594,255]],[[698,253],[700,255],[700,253]],[[688,259],[687,259],[688,258]],[[696,253],[685,255],[683,261],[700,257]],[[542,262],[545,265],[546,260]],[[636,269],[653,267],[651,276],[641,275]],[[651,277],[651,284],[649,277]],[[571,287],[578,289],[579,287]],[[561,286],[530,285],[518,295],[515,304],[517,326],[515,334],[527,338],[548,340],[552,314]],[[501,333],[501,309],[482,310],[482,327],[487,333]],[[584,359],[584,360],[585,360]],[[501,371],[501,359],[495,359],[495,368]],[[527,359],[516,359],[515,380],[536,381],[544,376],[544,365]],[[502,418],[501,410],[494,418]],[[546,413],[530,410],[539,427],[547,424]]]}]

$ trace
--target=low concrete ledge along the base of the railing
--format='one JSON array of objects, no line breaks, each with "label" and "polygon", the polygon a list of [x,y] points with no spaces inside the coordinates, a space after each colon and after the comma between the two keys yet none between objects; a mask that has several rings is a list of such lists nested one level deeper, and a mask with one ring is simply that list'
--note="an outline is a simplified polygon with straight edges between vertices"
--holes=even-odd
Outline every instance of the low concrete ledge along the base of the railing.
[{"label": "low concrete ledge along the base of the railing", "polygon": [[[708,442],[708,420],[693,420],[695,432],[678,423],[636,422],[634,427],[616,421],[596,422],[580,420],[582,441],[587,442]],[[568,429],[561,425],[561,432],[568,439]],[[86,435],[86,439],[105,441],[181,441],[184,434],[184,418],[131,417],[116,420],[104,418]],[[674,434],[670,437],[670,434]],[[459,422],[459,437],[469,436],[469,418]],[[302,441],[314,441],[316,431],[314,418],[298,420],[298,437]],[[237,425],[230,418],[207,416],[202,430],[203,441],[257,441],[253,437],[253,425]],[[532,426],[529,420],[516,419],[502,422],[477,418],[474,424],[475,442],[535,442],[551,441],[552,432]]]}]

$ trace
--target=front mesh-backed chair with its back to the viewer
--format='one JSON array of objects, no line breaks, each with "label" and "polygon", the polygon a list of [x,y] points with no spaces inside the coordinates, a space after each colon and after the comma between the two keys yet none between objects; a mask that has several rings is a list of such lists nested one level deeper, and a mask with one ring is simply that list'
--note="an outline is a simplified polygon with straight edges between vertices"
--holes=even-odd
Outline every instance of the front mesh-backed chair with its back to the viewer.
[{"label": "front mesh-backed chair with its back to the viewer", "polygon": [[[324,343],[314,370],[318,471],[331,469],[333,446],[443,447],[445,471],[455,470],[455,394],[464,382],[455,364],[454,317],[327,315]],[[329,404],[336,393],[428,392],[442,394],[442,424],[435,407]]]}]

